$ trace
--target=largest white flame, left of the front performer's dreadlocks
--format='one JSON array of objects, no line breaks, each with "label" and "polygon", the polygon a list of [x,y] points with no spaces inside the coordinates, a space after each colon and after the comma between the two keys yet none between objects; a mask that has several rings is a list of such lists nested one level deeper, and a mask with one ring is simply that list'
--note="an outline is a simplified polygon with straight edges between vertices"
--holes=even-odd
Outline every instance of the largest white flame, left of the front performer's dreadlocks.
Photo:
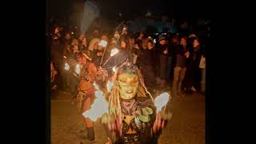
[{"label": "largest white flame, left of the front performer's dreadlocks", "polygon": [[85,118],[90,118],[92,121],[96,121],[98,118],[101,118],[103,114],[108,112],[109,107],[109,103],[106,102],[101,90],[97,90],[95,95],[97,98],[91,105],[90,110],[86,110],[86,112],[82,113]]}]

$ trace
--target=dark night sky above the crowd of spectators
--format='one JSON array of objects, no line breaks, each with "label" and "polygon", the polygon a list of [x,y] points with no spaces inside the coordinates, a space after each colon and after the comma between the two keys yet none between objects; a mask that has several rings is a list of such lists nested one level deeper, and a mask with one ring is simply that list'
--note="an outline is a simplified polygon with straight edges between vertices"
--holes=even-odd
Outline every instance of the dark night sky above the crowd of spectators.
[{"label": "dark night sky above the crowd of spectators", "polygon": [[[62,15],[81,12],[83,2],[84,0],[50,0],[50,16],[62,17]],[[154,14],[168,14],[175,17],[207,17],[207,7],[199,6],[197,1],[94,0],[94,2],[105,18],[116,18],[118,12],[121,12],[125,18],[133,18],[134,14],[146,14],[147,10]]]}]

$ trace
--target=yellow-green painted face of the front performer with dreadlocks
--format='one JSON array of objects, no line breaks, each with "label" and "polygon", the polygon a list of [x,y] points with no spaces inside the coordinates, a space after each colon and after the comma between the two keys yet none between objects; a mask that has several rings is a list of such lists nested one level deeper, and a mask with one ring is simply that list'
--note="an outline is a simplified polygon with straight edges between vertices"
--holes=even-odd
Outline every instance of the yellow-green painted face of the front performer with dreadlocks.
[{"label": "yellow-green painted face of the front performer with dreadlocks", "polygon": [[138,89],[136,74],[123,73],[118,75],[118,86],[122,99],[134,98]]}]

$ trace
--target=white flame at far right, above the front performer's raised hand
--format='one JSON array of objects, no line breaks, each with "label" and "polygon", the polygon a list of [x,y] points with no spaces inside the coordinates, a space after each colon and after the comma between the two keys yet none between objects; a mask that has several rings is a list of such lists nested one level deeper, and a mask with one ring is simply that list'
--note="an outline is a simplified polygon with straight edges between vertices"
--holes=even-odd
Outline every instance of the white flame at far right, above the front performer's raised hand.
[{"label": "white flame at far right, above the front performer's raised hand", "polygon": [[162,110],[163,106],[166,106],[167,102],[170,100],[170,94],[162,93],[154,99],[154,106],[157,107],[157,113]]}]

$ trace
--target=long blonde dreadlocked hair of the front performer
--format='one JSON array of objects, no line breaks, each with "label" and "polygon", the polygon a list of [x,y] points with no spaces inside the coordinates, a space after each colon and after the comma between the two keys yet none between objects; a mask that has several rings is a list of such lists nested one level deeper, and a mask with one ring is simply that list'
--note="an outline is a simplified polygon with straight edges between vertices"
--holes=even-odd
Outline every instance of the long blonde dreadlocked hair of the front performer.
[{"label": "long blonde dreadlocked hair of the front performer", "polygon": [[112,93],[110,94],[109,98],[109,112],[110,115],[114,116],[115,118],[119,117],[118,119],[122,119],[122,107],[120,102],[120,93],[119,93],[119,86],[118,86],[118,74],[123,73],[134,73],[138,76],[138,91],[137,91],[137,97],[147,97],[147,95],[150,95],[150,98],[154,102],[154,99],[150,92],[147,90],[144,80],[142,78],[141,70],[138,69],[137,66],[132,65],[128,62],[122,63],[121,66],[116,68],[116,71],[113,76],[114,85],[112,88]]}]

